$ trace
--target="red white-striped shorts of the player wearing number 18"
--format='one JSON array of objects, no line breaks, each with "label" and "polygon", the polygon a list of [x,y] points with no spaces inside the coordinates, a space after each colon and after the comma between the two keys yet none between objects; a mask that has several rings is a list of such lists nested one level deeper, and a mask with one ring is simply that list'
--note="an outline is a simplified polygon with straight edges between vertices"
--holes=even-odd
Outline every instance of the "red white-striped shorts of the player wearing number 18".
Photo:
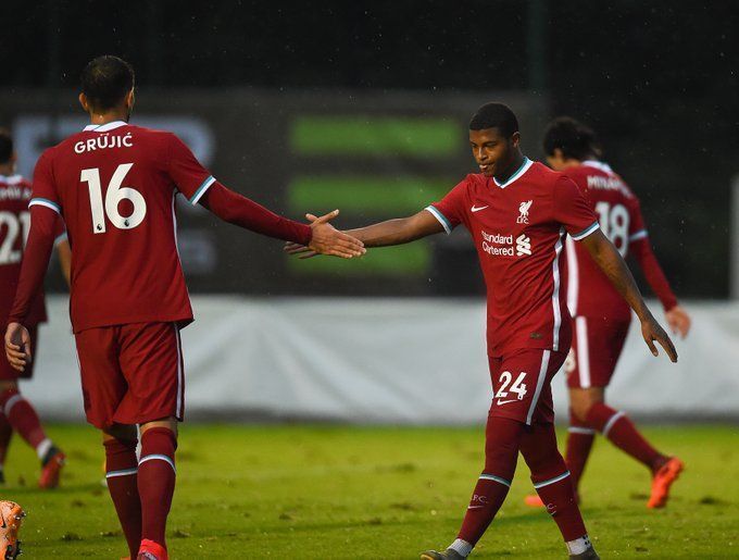
[{"label": "red white-striped shorts of the player wearing number 18", "polygon": [[573,319],[573,346],[564,364],[567,387],[606,387],[624,349],[630,321]]}]

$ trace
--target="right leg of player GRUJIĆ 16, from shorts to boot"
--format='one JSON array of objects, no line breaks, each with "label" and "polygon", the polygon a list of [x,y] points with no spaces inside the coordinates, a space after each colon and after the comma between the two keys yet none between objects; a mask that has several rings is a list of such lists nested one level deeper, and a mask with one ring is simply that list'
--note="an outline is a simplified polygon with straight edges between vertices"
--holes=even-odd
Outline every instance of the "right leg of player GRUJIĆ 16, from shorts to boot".
[{"label": "right leg of player GRUJI\u0106 16, from shorts to boot", "polygon": [[185,376],[179,329],[172,323],[123,325],[120,363],[128,390],[114,420],[139,424],[141,499],[139,556],[164,560],[166,519],[175,488],[177,422],[184,415]]}]

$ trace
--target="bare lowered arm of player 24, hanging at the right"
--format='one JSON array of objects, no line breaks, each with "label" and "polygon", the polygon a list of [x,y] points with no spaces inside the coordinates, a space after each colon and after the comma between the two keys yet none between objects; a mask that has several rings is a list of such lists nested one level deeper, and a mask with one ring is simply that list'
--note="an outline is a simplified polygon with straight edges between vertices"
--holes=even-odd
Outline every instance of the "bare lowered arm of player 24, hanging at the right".
[{"label": "bare lowered arm of player 24, hanging at the right", "polygon": [[677,361],[677,351],[667,333],[660,326],[652,316],[649,308],[644,303],[641,293],[637,287],[631,272],[626,262],[621,257],[613,244],[603,235],[600,229],[594,231],[580,241],[592,257],[593,261],[609,277],[611,284],[628,302],[641,321],[641,335],[654,356],[657,356],[654,340],[660,343],[673,362]]}]

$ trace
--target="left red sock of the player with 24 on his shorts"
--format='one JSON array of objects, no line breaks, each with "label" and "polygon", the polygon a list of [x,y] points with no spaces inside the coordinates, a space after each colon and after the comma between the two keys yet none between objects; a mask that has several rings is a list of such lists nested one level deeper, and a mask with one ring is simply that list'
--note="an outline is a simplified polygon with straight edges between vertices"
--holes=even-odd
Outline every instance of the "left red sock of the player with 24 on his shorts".
[{"label": "left red sock of the player with 24 on his shorts", "polygon": [[479,540],[503,505],[513,481],[524,424],[488,416],[485,433],[485,471],[480,475],[458,538],[472,546]]}]

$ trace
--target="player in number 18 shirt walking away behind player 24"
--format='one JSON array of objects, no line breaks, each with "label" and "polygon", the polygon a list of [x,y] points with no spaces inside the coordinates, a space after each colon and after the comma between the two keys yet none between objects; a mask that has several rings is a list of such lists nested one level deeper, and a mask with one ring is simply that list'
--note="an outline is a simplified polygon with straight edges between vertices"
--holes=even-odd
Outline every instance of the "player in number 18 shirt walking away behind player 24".
[{"label": "player in number 18 shirt walking away behind player 24", "polygon": [[[678,306],[652,252],[639,199],[599,161],[601,147],[596,134],[574,119],[559,117],[547,127],[543,149],[549,165],[578,186],[622,257],[636,258],[664,307],[667,325],[685,338],[690,316]],[[631,311],[588,251],[572,238],[567,238],[567,307],[574,322],[573,347],[565,362],[571,406],[565,461],[575,491],[598,432],[650,470],[652,491],[647,507],[662,508],[682,462],[654,449],[624,412],[605,403],[605,388],[624,347]],[[536,498],[530,496],[527,502],[540,505]]]}]

